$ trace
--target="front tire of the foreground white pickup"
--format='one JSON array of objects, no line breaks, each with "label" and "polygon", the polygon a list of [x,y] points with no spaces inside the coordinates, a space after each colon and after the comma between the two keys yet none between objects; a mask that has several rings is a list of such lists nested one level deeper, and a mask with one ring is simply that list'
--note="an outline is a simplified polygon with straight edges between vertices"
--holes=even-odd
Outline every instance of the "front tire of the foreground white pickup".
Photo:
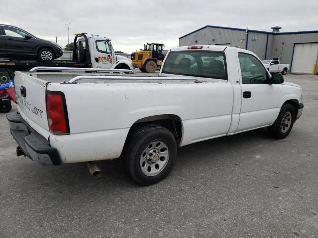
[{"label": "front tire of the foreground white pickup", "polygon": [[[288,113],[290,114],[290,120],[286,119],[286,115],[288,115]],[[290,124],[288,126],[284,126],[284,123],[289,123]],[[295,122],[295,108],[290,105],[290,104],[284,104],[281,109],[280,112],[278,114],[278,117],[276,119],[276,121],[274,122],[274,124],[272,124],[271,126],[268,126],[268,130],[270,132],[270,134],[276,138],[276,139],[283,139],[285,138],[290,131],[293,128]],[[283,127],[285,129],[283,129]]]}]

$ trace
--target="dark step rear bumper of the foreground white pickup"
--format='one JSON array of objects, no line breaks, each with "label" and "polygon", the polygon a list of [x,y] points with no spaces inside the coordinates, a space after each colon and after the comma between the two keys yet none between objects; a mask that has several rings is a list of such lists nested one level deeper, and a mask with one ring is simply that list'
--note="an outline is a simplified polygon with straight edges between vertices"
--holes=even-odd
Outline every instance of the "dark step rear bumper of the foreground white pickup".
[{"label": "dark step rear bumper of the foreground white pickup", "polygon": [[[48,140],[30,128],[18,113],[6,115],[10,125],[10,132],[18,143],[17,155],[24,154],[41,165],[60,165],[58,151],[50,146]],[[21,151],[18,153],[18,151]]]}]

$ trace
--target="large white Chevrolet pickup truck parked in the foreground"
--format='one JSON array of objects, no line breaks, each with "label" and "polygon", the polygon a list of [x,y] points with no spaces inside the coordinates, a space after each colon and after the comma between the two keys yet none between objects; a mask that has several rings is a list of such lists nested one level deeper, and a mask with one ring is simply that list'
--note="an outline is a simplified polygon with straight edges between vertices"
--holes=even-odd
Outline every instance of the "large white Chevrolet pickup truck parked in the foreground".
[{"label": "large white Chevrolet pickup truck parked in the foreground", "polygon": [[17,155],[88,162],[96,177],[93,161],[120,157],[141,185],[169,174],[179,146],[261,127],[282,139],[303,110],[300,86],[233,47],[171,49],[155,77],[43,71],[15,73],[18,113],[7,119]]}]

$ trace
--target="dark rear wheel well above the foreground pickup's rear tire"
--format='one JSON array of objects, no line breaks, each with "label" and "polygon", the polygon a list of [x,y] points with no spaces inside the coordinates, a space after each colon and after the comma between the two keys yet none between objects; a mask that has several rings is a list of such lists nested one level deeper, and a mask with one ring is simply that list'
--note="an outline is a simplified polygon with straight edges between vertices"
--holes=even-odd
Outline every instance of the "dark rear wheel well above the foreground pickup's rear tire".
[{"label": "dark rear wheel well above the foreground pickup's rear tire", "polygon": [[183,131],[182,120],[179,116],[174,114],[163,114],[139,119],[130,127],[128,135],[136,130],[138,127],[145,124],[155,124],[168,129],[173,134],[177,144],[180,144]]}]

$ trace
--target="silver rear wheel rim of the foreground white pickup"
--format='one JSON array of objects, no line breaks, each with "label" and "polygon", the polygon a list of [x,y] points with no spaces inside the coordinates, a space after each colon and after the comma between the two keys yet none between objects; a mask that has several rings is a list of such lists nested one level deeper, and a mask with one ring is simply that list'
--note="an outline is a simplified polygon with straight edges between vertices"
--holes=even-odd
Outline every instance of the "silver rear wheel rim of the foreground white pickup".
[{"label": "silver rear wheel rim of the foreground white pickup", "polygon": [[163,171],[169,161],[169,148],[161,140],[150,142],[140,156],[140,169],[144,175],[155,176]]}]

